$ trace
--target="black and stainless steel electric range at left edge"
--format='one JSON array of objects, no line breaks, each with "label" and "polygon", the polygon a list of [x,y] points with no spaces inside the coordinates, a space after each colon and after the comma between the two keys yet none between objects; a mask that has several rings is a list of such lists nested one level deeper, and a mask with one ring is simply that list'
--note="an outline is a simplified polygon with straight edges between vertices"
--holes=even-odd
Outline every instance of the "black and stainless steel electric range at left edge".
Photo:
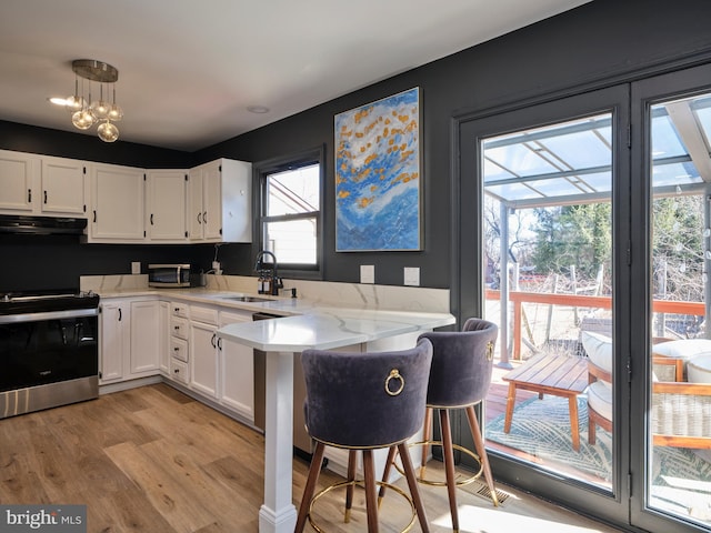
[{"label": "black and stainless steel electric range at left edge", "polygon": [[99,395],[99,295],[0,293],[0,419]]}]

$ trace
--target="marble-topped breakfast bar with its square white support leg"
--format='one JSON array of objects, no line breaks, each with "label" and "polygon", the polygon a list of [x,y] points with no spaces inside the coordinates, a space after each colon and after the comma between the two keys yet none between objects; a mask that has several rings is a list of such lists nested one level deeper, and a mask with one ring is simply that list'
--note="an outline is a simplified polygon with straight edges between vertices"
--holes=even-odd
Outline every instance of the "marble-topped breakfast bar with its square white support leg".
[{"label": "marble-topped breakfast bar with its square white support leg", "polygon": [[293,356],[307,349],[368,345],[453,324],[449,313],[364,309],[319,309],[312,313],[221,328],[218,335],[267,352],[264,502],[259,531],[293,531],[292,503]]}]

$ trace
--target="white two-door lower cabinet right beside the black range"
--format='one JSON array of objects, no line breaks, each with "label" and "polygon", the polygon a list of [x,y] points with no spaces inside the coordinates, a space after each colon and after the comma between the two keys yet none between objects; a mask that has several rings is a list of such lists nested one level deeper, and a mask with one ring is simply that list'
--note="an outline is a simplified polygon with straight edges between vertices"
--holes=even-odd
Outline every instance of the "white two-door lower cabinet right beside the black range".
[{"label": "white two-door lower cabinet right beside the black range", "polygon": [[106,299],[100,308],[101,384],[154,375],[161,346],[159,302]]}]

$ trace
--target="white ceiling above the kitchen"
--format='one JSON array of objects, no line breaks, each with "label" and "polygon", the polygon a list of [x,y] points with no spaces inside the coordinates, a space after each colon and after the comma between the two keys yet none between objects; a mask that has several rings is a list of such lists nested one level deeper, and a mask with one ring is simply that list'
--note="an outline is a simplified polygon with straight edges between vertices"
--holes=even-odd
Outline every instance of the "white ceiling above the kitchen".
[{"label": "white ceiling above the kitchen", "polygon": [[121,140],[194,151],[587,1],[1,0],[0,120],[78,132],[47,99],[97,59]]}]

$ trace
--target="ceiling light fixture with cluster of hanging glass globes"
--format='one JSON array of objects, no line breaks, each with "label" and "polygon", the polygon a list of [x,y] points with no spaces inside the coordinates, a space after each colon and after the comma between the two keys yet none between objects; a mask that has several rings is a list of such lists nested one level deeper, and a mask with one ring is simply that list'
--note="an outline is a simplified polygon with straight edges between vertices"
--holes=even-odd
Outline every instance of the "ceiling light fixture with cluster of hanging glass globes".
[{"label": "ceiling light fixture with cluster of hanging glass globes", "polygon": [[[119,129],[113,122],[123,118],[123,110],[116,103],[116,82],[119,71],[116,67],[96,59],[76,59],[71,63],[74,71],[74,93],[64,99],[64,108],[71,113],[71,121],[80,130],[88,130],[99,124],[97,133],[104,142],[114,142],[119,138]],[[81,78],[81,93],[79,93]],[[89,80],[89,99],[84,99],[84,80]],[[99,83],[99,99],[91,99],[91,82]],[[111,84],[113,100],[104,100],[104,86]],[[107,88],[107,95],[109,90]]]}]

